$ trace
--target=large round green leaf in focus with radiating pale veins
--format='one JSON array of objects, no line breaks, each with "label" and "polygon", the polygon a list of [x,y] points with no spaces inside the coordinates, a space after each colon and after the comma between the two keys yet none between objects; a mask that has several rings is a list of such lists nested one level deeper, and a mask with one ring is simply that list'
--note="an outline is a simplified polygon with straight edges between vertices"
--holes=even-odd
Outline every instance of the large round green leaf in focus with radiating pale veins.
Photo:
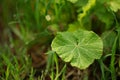
[{"label": "large round green leaf in focus with radiating pale veins", "polygon": [[59,32],[51,46],[62,60],[80,69],[87,68],[94,59],[99,59],[103,50],[101,38],[85,30]]}]

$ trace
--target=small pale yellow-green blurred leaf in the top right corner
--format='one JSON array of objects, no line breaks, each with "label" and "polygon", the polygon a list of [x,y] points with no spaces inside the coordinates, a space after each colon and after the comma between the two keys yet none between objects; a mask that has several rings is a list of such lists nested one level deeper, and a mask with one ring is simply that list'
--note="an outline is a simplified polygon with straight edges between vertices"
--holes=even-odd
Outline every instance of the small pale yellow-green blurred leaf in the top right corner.
[{"label": "small pale yellow-green blurred leaf in the top right corner", "polygon": [[120,9],[120,0],[112,0],[112,1],[110,1],[110,8],[114,12],[117,12],[118,9]]}]

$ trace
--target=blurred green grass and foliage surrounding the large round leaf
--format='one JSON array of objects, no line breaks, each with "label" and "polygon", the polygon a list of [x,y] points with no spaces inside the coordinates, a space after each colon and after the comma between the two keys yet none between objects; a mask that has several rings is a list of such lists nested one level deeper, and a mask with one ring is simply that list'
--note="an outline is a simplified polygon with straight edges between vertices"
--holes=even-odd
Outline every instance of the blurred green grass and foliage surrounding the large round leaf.
[{"label": "blurred green grass and foliage surrounding the large round leaf", "polygon": [[[119,0],[1,0],[0,80],[120,79]],[[103,55],[87,69],[62,61],[52,50],[58,31],[92,30]]]}]

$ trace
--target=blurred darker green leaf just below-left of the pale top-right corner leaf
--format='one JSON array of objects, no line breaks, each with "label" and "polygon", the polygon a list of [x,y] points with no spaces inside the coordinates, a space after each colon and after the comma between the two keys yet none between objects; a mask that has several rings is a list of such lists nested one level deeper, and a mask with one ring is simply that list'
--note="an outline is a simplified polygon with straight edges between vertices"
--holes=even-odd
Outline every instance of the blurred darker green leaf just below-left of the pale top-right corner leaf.
[{"label": "blurred darker green leaf just below-left of the pale top-right corner leaf", "polygon": [[113,22],[114,22],[114,16],[111,12],[109,12],[104,4],[101,4],[100,1],[96,2],[97,5],[94,7],[93,14],[95,14],[100,21],[105,23],[105,29],[110,29]]}]

